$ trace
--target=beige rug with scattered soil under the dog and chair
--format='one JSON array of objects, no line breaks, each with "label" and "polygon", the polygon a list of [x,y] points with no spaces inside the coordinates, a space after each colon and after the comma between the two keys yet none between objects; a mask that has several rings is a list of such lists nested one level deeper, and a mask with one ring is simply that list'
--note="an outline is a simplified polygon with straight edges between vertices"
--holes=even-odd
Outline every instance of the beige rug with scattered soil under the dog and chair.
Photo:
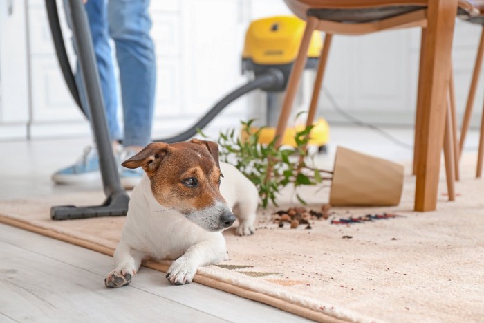
[{"label": "beige rug with scattered soil under the dog and chair", "polygon": [[[256,234],[225,232],[230,260],[199,268],[195,281],[322,322],[483,322],[484,180],[474,179],[475,158],[467,159],[472,163],[462,167],[457,201],[447,202],[442,180],[437,212],[412,212],[411,176],[400,206],[334,208],[329,220],[369,212],[402,215],[395,219],[352,225],[322,220],[310,230],[290,229],[277,228],[271,211],[261,210]],[[281,207],[297,204],[291,193]],[[328,200],[327,189],[301,193],[313,209]],[[124,217],[49,219],[50,205],[102,199],[101,193],[86,193],[1,201],[0,222],[112,255]],[[164,271],[169,263],[146,265]]]}]

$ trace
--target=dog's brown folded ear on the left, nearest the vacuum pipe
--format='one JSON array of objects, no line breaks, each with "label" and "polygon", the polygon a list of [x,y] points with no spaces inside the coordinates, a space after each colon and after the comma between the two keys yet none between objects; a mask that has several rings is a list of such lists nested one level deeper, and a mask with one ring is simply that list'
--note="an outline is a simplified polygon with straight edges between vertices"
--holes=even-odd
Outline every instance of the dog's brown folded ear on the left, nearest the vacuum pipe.
[{"label": "dog's brown folded ear on the left, nearest the vacuum pipe", "polygon": [[160,167],[160,163],[167,155],[167,152],[168,144],[165,142],[152,142],[135,156],[124,160],[121,165],[127,168],[138,168],[141,166],[142,169],[145,169],[145,172],[151,173]]}]

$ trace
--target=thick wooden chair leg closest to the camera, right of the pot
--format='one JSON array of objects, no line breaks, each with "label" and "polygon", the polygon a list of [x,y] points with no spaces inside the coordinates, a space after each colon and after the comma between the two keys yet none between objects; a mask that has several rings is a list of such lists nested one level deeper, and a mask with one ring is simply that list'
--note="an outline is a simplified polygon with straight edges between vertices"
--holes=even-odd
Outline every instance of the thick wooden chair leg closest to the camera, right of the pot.
[{"label": "thick wooden chair leg closest to the camera, right of the pot", "polygon": [[457,13],[457,0],[429,1],[427,37],[422,62],[421,120],[418,129],[416,211],[434,211],[437,206],[440,157],[442,154],[450,56]]}]

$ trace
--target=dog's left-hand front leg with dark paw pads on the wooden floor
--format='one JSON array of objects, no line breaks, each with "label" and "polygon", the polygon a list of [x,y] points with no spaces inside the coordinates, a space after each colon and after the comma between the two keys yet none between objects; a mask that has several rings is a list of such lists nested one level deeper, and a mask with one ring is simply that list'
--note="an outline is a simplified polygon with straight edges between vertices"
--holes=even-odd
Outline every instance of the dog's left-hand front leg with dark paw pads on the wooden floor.
[{"label": "dog's left-hand front leg with dark paw pads on the wooden floor", "polygon": [[136,276],[143,257],[145,255],[142,252],[134,250],[120,241],[114,252],[116,268],[107,275],[104,284],[107,287],[127,286],[131,283],[131,278]]}]

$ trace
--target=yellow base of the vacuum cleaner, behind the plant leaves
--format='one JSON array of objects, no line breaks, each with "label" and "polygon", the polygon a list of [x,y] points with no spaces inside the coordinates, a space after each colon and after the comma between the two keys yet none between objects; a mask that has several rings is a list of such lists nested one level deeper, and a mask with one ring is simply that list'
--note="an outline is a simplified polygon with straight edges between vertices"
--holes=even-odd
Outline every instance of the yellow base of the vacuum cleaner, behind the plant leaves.
[{"label": "yellow base of the vacuum cleaner, behind the plant leaves", "polygon": [[[304,124],[299,124],[296,127],[286,129],[286,132],[284,133],[284,136],[283,136],[282,145],[297,147],[296,140],[295,140],[296,133],[303,131],[305,128],[306,127],[304,126]],[[258,127],[251,127],[250,131],[254,133],[259,129],[260,128]],[[259,143],[269,144],[270,142],[272,142],[272,140],[274,140],[275,135],[276,135],[275,128],[273,127],[263,128],[261,129],[261,133],[259,135]],[[246,133],[245,131],[242,131],[242,140],[245,140],[247,136],[248,136],[248,133]],[[326,120],[324,120],[323,118],[319,118],[319,120],[315,122],[313,129],[311,129],[309,136],[310,136],[310,140],[308,142],[308,145],[317,146],[317,147],[322,147],[326,145],[329,141],[328,122],[326,122]]]}]

